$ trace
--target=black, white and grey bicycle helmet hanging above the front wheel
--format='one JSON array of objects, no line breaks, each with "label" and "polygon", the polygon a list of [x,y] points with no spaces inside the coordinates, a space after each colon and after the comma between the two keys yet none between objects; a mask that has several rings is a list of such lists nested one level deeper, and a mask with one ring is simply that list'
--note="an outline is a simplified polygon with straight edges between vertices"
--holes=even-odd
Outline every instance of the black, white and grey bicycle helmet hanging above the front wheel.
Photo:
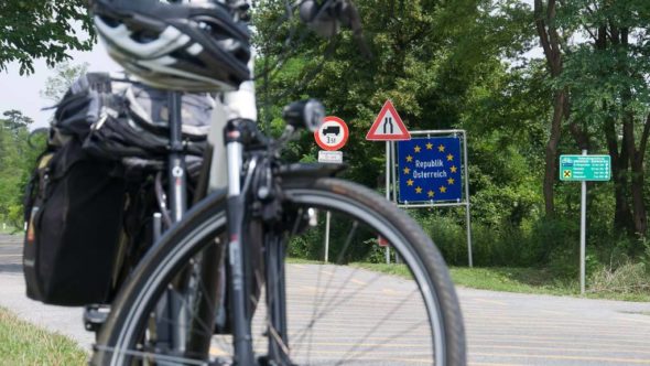
[{"label": "black, white and grey bicycle helmet hanging above the front wheel", "polygon": [[225,92],[250,79],[248,31],[223,4],[95,0],[91,9],[109,55],[145,84]]}]

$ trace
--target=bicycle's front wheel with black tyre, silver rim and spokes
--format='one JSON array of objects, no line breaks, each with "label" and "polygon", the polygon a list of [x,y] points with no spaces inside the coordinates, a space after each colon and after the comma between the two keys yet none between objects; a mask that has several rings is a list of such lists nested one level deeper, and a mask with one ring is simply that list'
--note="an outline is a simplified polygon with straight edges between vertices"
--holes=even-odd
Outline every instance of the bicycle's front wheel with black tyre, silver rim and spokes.
[{"label": "bicycle's front wheel with black tyre, silver rim and spokes", "polygon": [[[280,227],[280,252],[288,255],[272,267],[281,273],[267,274],[266,286],[260,284],[277,289],[271,281],[282,289],[251,293],[257,303],[252,342],[260,364],[269,363],[272,348],[296,365],[465,364],[461,309],[446,266],[408,215],[375,192],[337,179],[285,179],[283,193],[283,224],[267,232]],[[137,280],[116,300],[95,364],[237,364],[231,336],[213,334],[213,324],[198,320],[189,323],[203,325],[191,329],[186,320],[166,320],[204,337],[208,346],[202,354],[156,346],[148,327],[177,273],[214,246],[225,229],[225,200],[216,195],[165,235],[138,268]],[[325,241],[329,262],[322,260]],[[383,258],[379,243],[388,244],[401,263],[371,263]],[[269,243],[264,246],[267,252],[275,250]],[[202,288],[204,283],[195,284]]]}]

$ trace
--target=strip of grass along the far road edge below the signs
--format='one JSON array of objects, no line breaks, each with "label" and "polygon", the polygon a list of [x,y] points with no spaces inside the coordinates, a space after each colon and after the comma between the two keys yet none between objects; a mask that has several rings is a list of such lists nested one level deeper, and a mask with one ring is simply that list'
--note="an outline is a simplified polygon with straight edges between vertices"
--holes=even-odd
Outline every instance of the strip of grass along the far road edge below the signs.
[{"label": "strip of grass along the far road edge below the signs", "polygon": [[[356,267],[382,273],[410,277],[404,266],[381,263],[354,263]],[[579,297],[576,280],[557,280],[545,269],[537,268],[451,268],[452,280],[458,287],[473,289]],[[586,298],[625,301],[650,301],[646,293],[618,293],[613,291],[587,292]]]}]

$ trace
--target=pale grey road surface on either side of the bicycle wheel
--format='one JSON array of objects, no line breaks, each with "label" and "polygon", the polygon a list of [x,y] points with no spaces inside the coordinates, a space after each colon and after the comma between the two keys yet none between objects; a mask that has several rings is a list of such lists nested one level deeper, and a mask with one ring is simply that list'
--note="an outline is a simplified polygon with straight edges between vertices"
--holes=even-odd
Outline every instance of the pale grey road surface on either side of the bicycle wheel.
[{"label": "pale grey road surface on either side of the bicycle wheel", "polygon": [[[89,347],[93,336],[83,330],[79,309],[24,297],[20,255],[20,240],[0,235],[0,305]],[[473,289],[458,294],[470,365],[650,365],[648,303]]]}]

